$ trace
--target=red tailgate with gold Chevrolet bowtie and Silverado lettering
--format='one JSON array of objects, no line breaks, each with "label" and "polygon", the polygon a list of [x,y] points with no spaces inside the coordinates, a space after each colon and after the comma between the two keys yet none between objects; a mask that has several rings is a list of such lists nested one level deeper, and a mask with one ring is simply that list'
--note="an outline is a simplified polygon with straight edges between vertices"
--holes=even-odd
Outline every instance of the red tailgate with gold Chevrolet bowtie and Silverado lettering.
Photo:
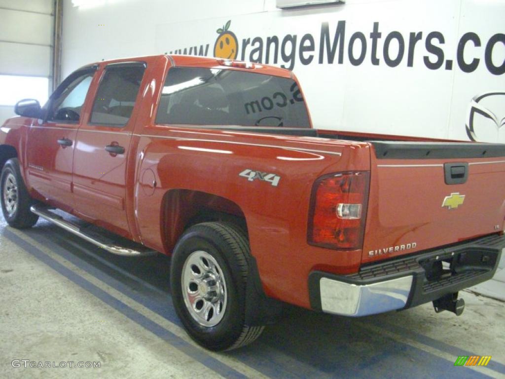
[{"label": "red tailgate with gold Chevrolet bowtie and Silverado lettering", "polygon": [[370,144],[362,263],[503,230],[505,145]]}]

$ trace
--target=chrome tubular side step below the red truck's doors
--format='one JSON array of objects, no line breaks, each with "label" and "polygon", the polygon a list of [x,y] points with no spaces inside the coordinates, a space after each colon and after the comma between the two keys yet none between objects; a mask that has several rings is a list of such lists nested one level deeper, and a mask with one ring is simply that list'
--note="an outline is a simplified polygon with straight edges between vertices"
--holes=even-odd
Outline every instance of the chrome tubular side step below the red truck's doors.
[{"label": "chrome tubular side step below the red truck's doors", "polygon": [[[140,244],[132,244],[138,245],[134,249],[131,247],[120,246],[115,243],[111,243],[111,241],[107,241],[107,238],[102,238],[95,233],[90,233],[87,230],[83,230],[82,227],[76,225],[70,221],[65,220],[63,217],[57,215],[56,213],[51,212],[47,207],[40,205],[32,205],[30,211],[35,213],[36,215],[42,217],[47,221],[51,221],[55,225],[60,226],[61,228],[79,236],[83,240],[92,243],[93,245],[98,246],[104,250],[107,250],[109,253],[123,256],[146,256],[146,255],[155,255],[157,251],[148,249],[143,247]],[[118,236],[119,237],[119,236]],[[121,238],[121,237],[119,237]]]}]

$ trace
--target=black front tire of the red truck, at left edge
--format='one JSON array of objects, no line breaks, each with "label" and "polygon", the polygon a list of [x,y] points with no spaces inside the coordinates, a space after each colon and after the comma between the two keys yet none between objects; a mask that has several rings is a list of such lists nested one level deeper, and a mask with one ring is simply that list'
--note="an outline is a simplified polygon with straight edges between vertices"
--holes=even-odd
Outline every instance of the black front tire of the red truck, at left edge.
[{"label": "black front tire of the red truck, at left edge", "polygon": [[[7,181],[8,185],[6,186]],[[6,192],[12,191],[12,185],[15,186],[15,190],[12,192],[13,196],[9,196],[8,194],[6,197]],[[26,189],[17,158],[9,159],[2,169],[2,176],[0,177],[0,201],[2,203],[4,218],[12,227],[24,229],[32,227],[37,222],[38,216],[30,212],[33,199]],[[15,208],[10,208],[13,204],[15,204]]]}]

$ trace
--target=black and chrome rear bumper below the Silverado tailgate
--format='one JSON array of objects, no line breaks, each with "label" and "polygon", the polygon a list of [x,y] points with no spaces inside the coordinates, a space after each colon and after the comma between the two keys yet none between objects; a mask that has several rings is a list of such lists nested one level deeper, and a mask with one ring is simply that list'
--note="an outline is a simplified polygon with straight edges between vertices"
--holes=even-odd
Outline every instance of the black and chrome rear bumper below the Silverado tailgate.
[{"label": "black and chrome rear bumper below the Silverado tailgate", "polygon": [[345,316],[366,316],[433,301],[490,279],[505,235],[485,237],[363,266],[360,272],[309,275],[311,306]]}]

